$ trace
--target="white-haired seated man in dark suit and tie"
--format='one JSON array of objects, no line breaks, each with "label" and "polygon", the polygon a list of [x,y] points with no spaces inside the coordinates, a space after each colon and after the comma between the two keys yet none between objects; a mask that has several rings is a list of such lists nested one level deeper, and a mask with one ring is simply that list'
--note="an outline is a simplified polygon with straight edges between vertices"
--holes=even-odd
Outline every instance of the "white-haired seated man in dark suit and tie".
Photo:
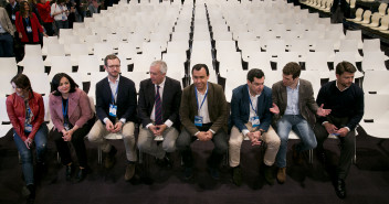
[{"label": "white-haired seated man in dark suit and tie", "polygon": [[[166,76],[168,67],[164,61],[155,61],[150,65],[150,78],[140,82],[138,117],[138,148],[149,153],[164,164],[170,164],[166,152],[176,150],[176,139],[180,127],[179,107],[181,85],[178,80]],[[158,138],[164,141],[158,146]]]}]

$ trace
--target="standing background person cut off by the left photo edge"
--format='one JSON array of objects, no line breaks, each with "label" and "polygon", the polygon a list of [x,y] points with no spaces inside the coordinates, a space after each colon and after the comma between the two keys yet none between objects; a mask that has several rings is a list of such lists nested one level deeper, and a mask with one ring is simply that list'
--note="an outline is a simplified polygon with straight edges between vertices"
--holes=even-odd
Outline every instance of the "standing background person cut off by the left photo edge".
[{"label": "standing background person cut off by the left photo edge", "polygon": [[14,28],[4,8],[0,7],[0,57],[13,56]]}]

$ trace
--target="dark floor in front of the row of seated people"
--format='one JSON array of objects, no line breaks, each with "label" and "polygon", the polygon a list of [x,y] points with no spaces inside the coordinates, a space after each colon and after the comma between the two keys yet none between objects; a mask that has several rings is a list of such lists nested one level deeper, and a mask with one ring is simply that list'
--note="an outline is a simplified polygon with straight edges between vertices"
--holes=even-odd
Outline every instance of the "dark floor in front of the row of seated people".
[{"label": "dark floor in front of the row of seated people", "polygon": [[[297,142],[291,141],[288,147]],[[56,161],[53,141],[49,140],[49,172],[38,184],[36,204],[105,204],[105,203],[389,203],[389,158],[378,148],[378,139],[367,136],[359,128],[357,136],[357,164],[347,178],[346,200],[339,200],[332,185],[333,171],[314,159],[313,164],[296,165],[288,152],[287,180],[285,184],[270,186],[260,176],[259,164],[263,153],[260,148],[243,143],[241,165],[244,184],[231,183],[230,170],[221,167],[221,180],[213,181],[206,170],[206,158],[211,142],[196,141],[192,144],[196,158],[196,176],[182,180],[180,157],[174,153],[174,168],[161,169],[151,157],[149,163],[153,184],[124,181],[125,153],[122,141],[114,141],[118,149],[117,163],[112,170],[97,165],[97,150],[86,141],[90,165],[93,172],[82,183],[66,182],[64,168]],[[339,149],[337,140],[325,143],[328,155],[327,169],[334,169]],[[389,149],[389,141],[383,142]],[[261,158],[261,159],[260,159]],[[20,204],[25,200],[18,151],[10,133],[0,139],[0,203]]]}]

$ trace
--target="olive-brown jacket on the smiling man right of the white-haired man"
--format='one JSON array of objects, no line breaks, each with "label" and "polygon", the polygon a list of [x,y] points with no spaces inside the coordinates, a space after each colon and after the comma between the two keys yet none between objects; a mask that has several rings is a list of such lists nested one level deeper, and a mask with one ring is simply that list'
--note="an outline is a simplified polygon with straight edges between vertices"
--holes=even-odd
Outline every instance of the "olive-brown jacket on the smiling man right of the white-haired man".
[{"label": "olive-brown jacket on the smiling man right of the white-haired man", "polygon": [[[212,127],[210,129],[218,132],[219,129],[222,128],[227,132],[228,110],[223,88],[220,85],[210,82],[208,82],[208,111],[212,122]],[[193,84],[187,86],[182,92],[180,106],[181,124],[192,136],[199,131],[199,129],[195,126],[195,116],[198,115],[195,92]]]}]

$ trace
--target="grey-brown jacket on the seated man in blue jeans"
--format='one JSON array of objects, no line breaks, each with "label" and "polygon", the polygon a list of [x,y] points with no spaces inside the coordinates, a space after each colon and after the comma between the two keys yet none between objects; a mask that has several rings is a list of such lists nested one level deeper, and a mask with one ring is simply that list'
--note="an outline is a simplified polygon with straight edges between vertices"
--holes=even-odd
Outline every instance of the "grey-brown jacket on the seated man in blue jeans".
[{"label": "grey-brown jacket on the seated man in blue jeans", "polygon": [[[283,85],[282,80],[273,84],[272,95],[273,103],[280,108],[280,114],[274,117],[276,121],[285,114],[287,106],[286,86]],[[306,108],[308,108],[314,114],[316,114],[318,108],[314,98],[314,90],[312,88],[312,84],[308,80],[302,78],[299,78],[298,108],[299,114],[304,117],[305,120],[308,120],[308,111]]]}]

